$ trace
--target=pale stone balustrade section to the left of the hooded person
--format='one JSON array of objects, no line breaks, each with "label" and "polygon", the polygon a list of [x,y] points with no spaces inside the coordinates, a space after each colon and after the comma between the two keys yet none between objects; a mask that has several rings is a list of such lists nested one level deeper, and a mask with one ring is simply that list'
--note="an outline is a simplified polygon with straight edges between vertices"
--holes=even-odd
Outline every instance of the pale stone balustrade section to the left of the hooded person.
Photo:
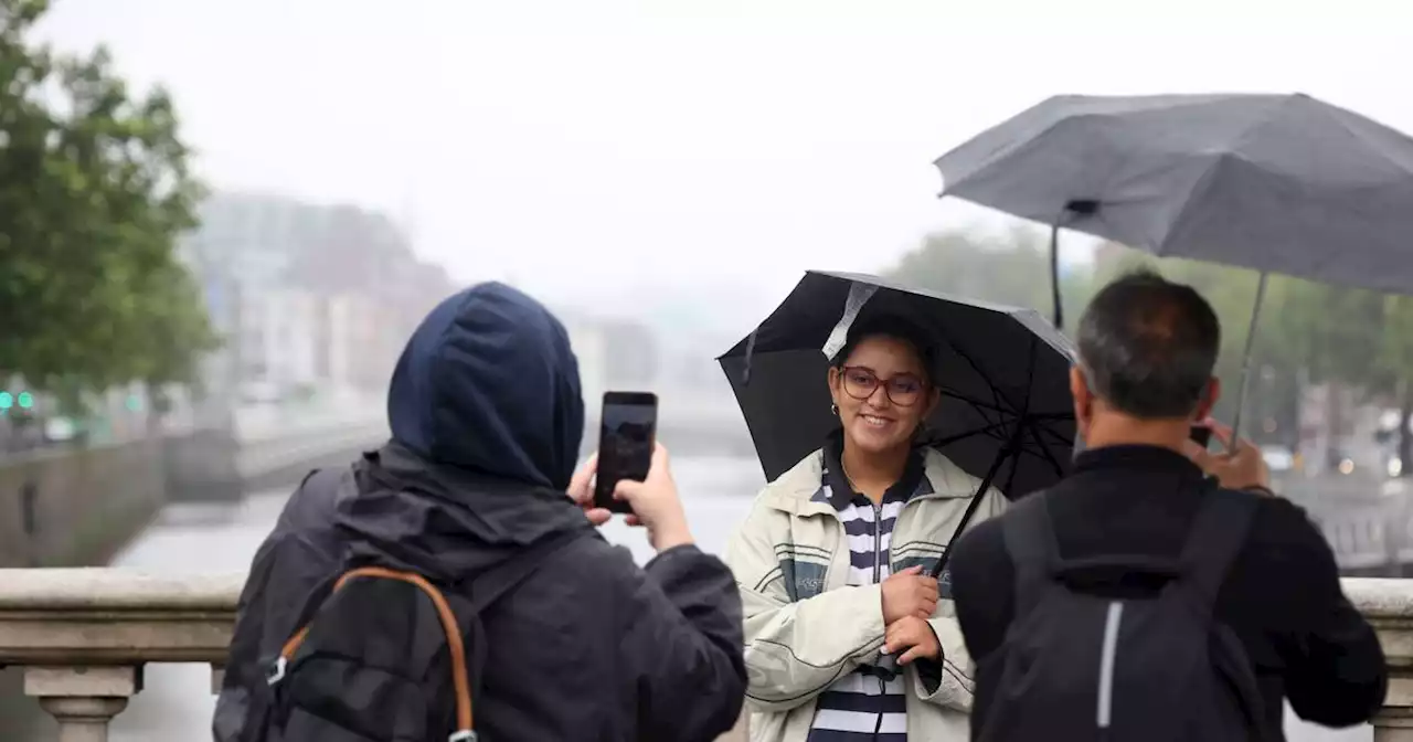
[{"label": "pale stone balustrade section to the left of the hooded person", "polygon": [[[59,742],[106,742],[143,690],[147,663],[222,663],[243,574],[155,577],[134,570],[0,570],[0,667],[59,724]],[[722,738],[745,739],[743,724]]]}]

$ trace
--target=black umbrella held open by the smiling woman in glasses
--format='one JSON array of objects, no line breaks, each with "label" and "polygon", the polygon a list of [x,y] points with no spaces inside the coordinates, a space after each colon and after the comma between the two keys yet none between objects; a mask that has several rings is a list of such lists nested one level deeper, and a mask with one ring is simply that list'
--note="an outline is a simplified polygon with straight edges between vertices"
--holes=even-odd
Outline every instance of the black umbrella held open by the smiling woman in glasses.
[{"label": "black umbrella held open by the smiling woman in glasses", "polygon": [[[818,449],[829,411],[829,355],[859,317],[903,317],[937,348],[942,391],[926,445],[1009,497],[1063,476],[1074,449],[1070,342],[1031,310],[930,294],[873,276],[810,271],[749,336],[722,355],[766,479]],[[974,497],[962,524],[971,519]],[[958,529],[958,533],[961,529]],[[945,554],[938,571],[945,564]]]}]

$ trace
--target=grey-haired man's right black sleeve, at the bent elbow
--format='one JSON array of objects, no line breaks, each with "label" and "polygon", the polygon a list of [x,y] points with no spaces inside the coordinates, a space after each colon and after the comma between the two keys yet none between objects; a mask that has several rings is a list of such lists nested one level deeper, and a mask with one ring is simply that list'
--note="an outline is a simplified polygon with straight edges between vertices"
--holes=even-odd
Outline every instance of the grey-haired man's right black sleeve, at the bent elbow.
[{"label": "grey-haired man's right black sleeve, at the bent elbow", "polygon": [[1263,520],[1258,527],[1280,538],[1275,568],[1297,581],[1276,642],[1291,708],[1325,726],[1368,721],[1383,705],[1388,666],[1373,629],[1340,587],[1330,544],[1304,510],[1286,500],[1272,502]]}]

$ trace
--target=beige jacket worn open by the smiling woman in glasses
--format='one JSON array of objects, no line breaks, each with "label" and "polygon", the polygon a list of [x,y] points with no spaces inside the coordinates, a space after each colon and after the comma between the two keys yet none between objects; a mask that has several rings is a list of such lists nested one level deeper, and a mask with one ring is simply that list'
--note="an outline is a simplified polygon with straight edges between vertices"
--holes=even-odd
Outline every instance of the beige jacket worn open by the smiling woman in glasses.
[{"label": "beige jacket worn open by the smiling woman in glasses", "polygon": [[[805,457],[767,485],[726,546],[726,564],[740,587],[746,622],[746,700],[752,742],[804,742],[815,697],[883,646],[879,585],[849,587],[849,547],[835,509],[824,499],[824,455]],[[896,572],[933,568],[952,537],[981,481],[947,457],[928,451],[931,485],[899,513],[890,543]],[[1005,507],[988,490],[971,524]],[[965,742],[974,664],[957,626],[948,575],[930,623],[942,646],[942,681],[927,693],[909,666],[907,735],[930,742]]]}]

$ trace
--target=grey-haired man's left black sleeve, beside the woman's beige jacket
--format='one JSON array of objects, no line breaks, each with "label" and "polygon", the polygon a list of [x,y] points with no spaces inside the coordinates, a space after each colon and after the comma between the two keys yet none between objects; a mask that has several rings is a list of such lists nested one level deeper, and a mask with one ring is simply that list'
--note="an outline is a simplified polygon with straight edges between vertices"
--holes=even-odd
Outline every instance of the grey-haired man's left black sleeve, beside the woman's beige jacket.
[{"label": "grey-haired man's left black sleeve, beside the woman's beige jacket", "polygon": [[965,533],[947,565],[957,623],[978,667],[1006,639],[1015,609],[1015,567],[1006,553],[1000,522],[988,519]]}]

